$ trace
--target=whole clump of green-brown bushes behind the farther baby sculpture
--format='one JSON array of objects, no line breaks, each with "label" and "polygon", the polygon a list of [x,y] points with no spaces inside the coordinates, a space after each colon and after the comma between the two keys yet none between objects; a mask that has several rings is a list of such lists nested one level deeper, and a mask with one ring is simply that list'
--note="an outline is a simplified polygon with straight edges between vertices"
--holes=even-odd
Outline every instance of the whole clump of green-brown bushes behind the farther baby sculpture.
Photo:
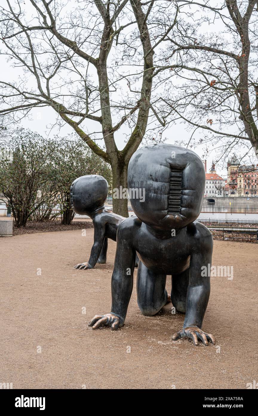
[{"label": "whole clump of green-brown bushes behind the farther baby sculpture", "polygon": [[100,174],[112,182],[110,165],[94,154],[84,141],[74,136],[45,139],[26,129],[16,129],[0,146],[0,192],[12,208],[17,227],[28,219],[44,221],[61,215],[71,224],[71,183],[83,175]]}]

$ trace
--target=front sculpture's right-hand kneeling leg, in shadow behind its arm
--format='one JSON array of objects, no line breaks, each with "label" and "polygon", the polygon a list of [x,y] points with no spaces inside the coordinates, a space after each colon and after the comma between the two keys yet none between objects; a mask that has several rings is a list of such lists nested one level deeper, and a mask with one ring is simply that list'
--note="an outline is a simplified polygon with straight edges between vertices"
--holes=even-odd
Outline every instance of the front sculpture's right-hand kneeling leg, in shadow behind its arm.
[{"label": "front sculpture's right-hand kneeling leg, in shadow behind its arm", "polygon": [[189,283],[190,267],[183,273],[173,275],[171,279],[171,302],[178,312],[185,313],[186,311],[186,293]]}]

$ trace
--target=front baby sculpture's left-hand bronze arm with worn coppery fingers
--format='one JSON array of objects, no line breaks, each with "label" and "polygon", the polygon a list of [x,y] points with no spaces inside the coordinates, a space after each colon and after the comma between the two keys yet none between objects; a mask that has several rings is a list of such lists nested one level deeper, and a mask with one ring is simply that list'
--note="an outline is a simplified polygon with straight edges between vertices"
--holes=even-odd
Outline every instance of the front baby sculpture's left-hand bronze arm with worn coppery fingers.
[{"label": "front baby sculpture's left-hand bronze arm with worn coppery fingers", "polygon": [[[111,312],[105,315],[95,315],[89,323],[93,329],[101,325],[118,329],[124,324],[127,308],[133,289],[133,273],[135,262],[135,250],[131,246],[130,235],[124,230],[124,225],[119,225],[117,230],[117,251],[114,262],[114,270],[111,280],[112,307]],[[133,230],[130,231],[131,235]]]}]

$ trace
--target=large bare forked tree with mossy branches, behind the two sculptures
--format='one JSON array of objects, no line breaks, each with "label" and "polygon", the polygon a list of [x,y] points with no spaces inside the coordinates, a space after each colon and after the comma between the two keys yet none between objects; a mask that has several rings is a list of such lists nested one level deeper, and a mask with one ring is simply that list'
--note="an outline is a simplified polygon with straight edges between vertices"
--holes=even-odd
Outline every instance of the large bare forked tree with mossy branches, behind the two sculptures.
[{"label": "large bare forked tree with mossy branches, behind the two sculptures", "polygon": [[[127,187],[127,166],[144,134],[156,140],[166,129],[153,55],[169,40],[180,7],[154,0],[6,0],[2,53],[23,73],[1,82],[2,125],[50,106],[60,125],[69,124],[110,163],[113,188]],[[96,140],[104,140],[104,149]],[[128,215],[124,199],[114,199],[113,209]]]}]

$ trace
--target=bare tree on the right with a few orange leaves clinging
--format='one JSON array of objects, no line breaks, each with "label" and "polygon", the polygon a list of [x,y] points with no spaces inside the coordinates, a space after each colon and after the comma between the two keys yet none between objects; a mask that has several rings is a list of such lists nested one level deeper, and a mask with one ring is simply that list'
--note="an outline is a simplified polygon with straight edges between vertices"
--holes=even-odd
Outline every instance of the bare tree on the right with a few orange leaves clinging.
[{"label": "bare tree on the right with a few orange leaves clinging", "polygon": [[257,1],[176,3],[184,5],[184,14],[157,70],[167,80],[164,111],[170,106],[170,122],[190,126],[188,147],[213,146],[220,149],[218,159],[234,146],[246,154],[253,147],[258,157]]}]

